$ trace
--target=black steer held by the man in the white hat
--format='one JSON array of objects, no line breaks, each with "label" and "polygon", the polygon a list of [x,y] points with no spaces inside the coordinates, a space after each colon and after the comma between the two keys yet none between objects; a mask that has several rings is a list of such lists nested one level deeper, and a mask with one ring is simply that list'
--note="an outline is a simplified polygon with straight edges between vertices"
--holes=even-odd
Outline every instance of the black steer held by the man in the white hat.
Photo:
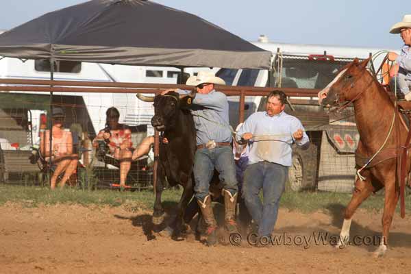
[{"label": "black steer held by the man in the white hat", "polygon": [[160,141],[153,223],[158,225],[163,220],[161,195],[167,177],[171,186],[180,184],[184,188],[177,206],[175,234],[182,229],[184,211],[194,194],[192,169],[197,147],[194,121],[187,108],[191,100],[190,97],[179,99],[176,92],[158,95],[154,99],[155,115],[151,119],[153,127],[162,132],[162,136],[168,140],[167,144]]}]

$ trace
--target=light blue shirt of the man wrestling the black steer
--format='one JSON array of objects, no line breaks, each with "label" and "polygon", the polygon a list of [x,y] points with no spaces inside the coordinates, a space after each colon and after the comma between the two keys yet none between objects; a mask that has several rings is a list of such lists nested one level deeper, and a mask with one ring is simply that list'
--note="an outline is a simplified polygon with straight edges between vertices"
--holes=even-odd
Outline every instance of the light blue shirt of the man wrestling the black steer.
[{"label": "light blue shirt of the man wrestling the black steer", "polygon": [[[188,92],[178,90],[179,93]],[[190,107],[197,130],[197,145],[215,142],[231,142],[228,101],[223,92],[212,90],[208,94],[197,93]]]}]

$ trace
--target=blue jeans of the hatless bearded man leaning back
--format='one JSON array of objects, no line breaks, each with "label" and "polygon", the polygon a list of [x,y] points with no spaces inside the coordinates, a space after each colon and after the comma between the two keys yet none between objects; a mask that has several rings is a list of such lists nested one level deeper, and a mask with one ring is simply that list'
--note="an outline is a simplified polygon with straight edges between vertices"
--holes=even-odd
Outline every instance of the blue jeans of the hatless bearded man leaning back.
[{"label": "blue jeans of the hatless bearded man leaning back", "polygon": [[[258,162],[247,166],[242,186],[242,198],[254,222],[258,225],[260,236],[273,233],[277,221],[278,203],[288,177],[288,166],[271,162]],[[262,189],[264,197],[258,196]]]}]

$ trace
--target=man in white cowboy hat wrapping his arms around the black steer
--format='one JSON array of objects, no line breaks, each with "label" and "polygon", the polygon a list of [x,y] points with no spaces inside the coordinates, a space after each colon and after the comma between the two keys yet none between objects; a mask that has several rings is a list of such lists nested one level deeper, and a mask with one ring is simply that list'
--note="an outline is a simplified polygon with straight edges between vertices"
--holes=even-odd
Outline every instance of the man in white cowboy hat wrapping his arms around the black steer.
[{"label": "man in white cowboy hat wrapping his arms around the black steer", "polygon": [[[197,130],[197,151],[193,169],[195,197],[208,226],[208,245],[216,245],[217,224],[209,193],[214,168],[219,171],[219,179],[224,185],[225,229],[227,232],[237,231],[234,212],[238,186],[231,147],[232,132],[229,127],[228,101],[224,93],[214,88],[215,84],[225,85],[225,82],[212,72],[200,71],[197,76],[188,78],[186,84],[195,86],[197,90],[190,108]],[[171,90],[162,92],[162,95],[169,91]]]}]

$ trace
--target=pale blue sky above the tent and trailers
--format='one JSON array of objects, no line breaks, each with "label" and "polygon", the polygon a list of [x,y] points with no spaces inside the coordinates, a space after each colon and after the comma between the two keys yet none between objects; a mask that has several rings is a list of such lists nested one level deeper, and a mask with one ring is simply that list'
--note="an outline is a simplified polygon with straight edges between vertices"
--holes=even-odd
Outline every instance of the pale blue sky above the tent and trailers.
[{"label": "pale blue sky above the tent and trailers", "polygon": [[[2,0],[0,29],[85,0]],[[390,27],[411,14],[410,0],[157,0],[196,14],[249,41],[264,34],[273,42],[399,49]],[[154,18],[155,19],[155,18]]]}]

